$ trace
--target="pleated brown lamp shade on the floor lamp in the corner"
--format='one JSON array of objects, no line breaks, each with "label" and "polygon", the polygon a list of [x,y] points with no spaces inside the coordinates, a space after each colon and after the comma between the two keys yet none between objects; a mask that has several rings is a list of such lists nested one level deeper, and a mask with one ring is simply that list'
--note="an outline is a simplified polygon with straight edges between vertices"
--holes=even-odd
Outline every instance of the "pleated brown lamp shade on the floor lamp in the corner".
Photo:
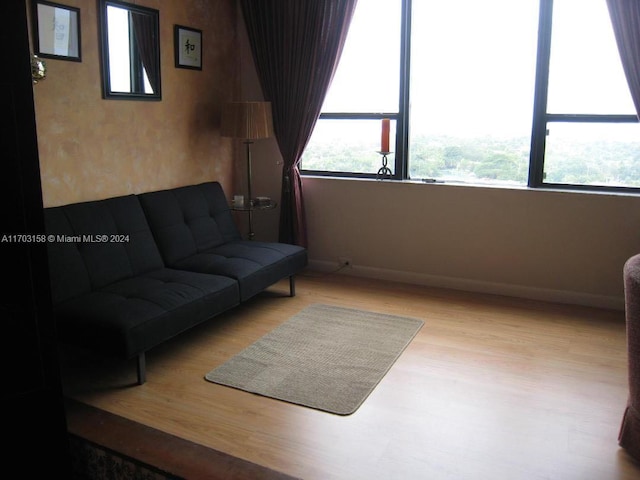
[{"label": "pleated brown lamp shade on the floor lamp in the corner", "polygon": [[273,136],[271,102],[230,102],[222,108],[222,136],[259,140]]}]

